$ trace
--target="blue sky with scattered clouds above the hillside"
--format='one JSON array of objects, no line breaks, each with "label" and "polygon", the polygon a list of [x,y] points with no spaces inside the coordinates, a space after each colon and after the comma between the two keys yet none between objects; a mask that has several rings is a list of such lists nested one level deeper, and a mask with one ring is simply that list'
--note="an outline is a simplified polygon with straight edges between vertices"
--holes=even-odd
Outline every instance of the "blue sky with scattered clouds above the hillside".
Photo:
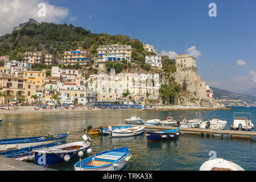
[{"label": "blue sky with scattered clouds above the hillside", "polygon": [[[210,86],[235,93],[256,88],[255,0],[0,2],[0,35],[29,18],[72,23],[93,33],[140,39],[170,58],[191,55],[196,58],[197,75]],[[210,3],[216,5],[216,16],[209,16]]]}]

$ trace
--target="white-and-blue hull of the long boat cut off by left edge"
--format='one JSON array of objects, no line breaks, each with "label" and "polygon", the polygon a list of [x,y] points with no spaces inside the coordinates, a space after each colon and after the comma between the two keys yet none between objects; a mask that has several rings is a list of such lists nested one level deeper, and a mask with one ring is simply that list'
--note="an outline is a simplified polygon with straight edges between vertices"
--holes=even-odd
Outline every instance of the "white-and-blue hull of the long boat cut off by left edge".
[{"label": "white-and-blue hull of the long boat cut off by left edge", "polygon": [[[44,137],[44,136],[42,136]],[[38,138],[38,137],[35,137]],[[20,149],[20,148],[26,148],[26,147],[32,147],[32,146],[39,146],[42,144],[49,144],[49,143],[61,143],[67,140],[68,134],[61,134],[59,138],[56,139],[46,139],[46,140],[37,140],[35,142],[32,142],[31,140],[27,140],[26,138],[23,138],[24,140],[20,140],[20,142],[15,143],[13,142],[0,142],[0,152],[7,151],[7,150],[14,150],[14,149]],[[30,138],[27,138],[30,139]],[[5,139],[3,139],[4,141]]]}]

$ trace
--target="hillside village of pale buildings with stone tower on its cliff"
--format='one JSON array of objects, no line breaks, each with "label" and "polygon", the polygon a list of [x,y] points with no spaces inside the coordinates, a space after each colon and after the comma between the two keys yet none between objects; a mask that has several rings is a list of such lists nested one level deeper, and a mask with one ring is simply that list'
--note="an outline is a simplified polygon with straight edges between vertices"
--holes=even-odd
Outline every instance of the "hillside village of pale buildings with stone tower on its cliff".
[{"label": "hillside village of pale buildings with stone tower on its cliff", "polygon": [[[75,49],[69,49],[61,43],[59,51],[51,45],[40,51],[39,48],[26,51],[28,44],[16,49],[19,44],[24,45],[21,32],[36,31],[41,25],[34,20],[21,25],[14,28],[14,35],[0,39],[0,46],[9,46],[2,54],[10,53],[0,55],[2,105],[119,102],[225,108],[217,104],[212,89],[196,75],[196,59],[192,56],[179,55],[171,60],[160,55],[154,46],[134,39],[127,39],[126,44],[113,42],[96,47],[93,42],[89,46],[78,43]],[[23,30],[31,26],[32,29]],[[46,25],[42,23],[42,26]],[[90,32],[86,31],[87,34]],[[12,36],[16,37],[14,42]],[[27,41],[32,36],[26,35]]]}]

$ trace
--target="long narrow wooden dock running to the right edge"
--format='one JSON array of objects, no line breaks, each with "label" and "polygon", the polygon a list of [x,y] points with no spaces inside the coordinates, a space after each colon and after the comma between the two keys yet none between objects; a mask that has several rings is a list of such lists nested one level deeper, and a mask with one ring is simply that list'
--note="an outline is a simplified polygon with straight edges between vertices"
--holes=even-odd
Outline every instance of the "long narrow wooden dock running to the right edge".
[{"label": "long narrow wooden dock running to the right edge", "polygon": [[[125,126],[125,124],[120,124],[118,126]],[[145,128],[155,130],[155,131],[173,130],[173,129],[177,130],[177,127],[171,127],[171,126],[145,126]],[[179,127],[179,131],[181,134],[194,134],[194,135],[201,135],[201,136],[210,135],[212,137],[247,138],[247,139],[256,137],[256,131],[213,130],[213,129],[185,128],[185,127]]]}]

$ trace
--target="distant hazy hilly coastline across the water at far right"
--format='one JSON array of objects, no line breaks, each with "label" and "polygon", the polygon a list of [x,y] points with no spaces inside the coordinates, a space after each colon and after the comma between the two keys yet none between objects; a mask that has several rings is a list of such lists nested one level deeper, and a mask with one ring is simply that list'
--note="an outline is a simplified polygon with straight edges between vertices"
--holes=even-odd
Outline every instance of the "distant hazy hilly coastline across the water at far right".
[{"label": "distant hazy hilly coastline across the water at far right", "polygon": [[213,90],[214,98],[217,100],[242,100],[247,104],[256,104],[256,97],[248,94],[233,93],[228,90],[210,87]]}]

